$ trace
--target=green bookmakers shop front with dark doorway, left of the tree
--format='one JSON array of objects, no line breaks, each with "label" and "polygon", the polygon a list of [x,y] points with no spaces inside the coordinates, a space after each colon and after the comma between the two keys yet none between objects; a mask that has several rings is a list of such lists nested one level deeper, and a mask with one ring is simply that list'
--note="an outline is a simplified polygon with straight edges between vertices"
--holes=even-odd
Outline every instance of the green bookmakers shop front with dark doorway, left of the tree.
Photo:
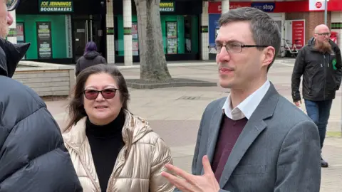
[{"label": "green bookmakers shop front with dark doorway, left of the tree", "polygon": [[105,36],[100,33],[105,28],[103,10],[105,7],[95,0],[21,2],[16,10],[17,41],[31,43],[24,59],[76,63],[88,41],[95,41],[105,55]]}]

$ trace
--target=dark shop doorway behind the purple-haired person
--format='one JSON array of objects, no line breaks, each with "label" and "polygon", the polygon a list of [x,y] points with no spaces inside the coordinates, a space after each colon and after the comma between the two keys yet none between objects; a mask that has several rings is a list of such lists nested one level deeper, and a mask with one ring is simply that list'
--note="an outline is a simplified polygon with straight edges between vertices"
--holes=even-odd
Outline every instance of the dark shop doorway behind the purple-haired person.
[{"label": "dark shop doorway behind the purple-haired person", "polygon": [[98,52],[105,55],[105,34],[100,15],[73,16],[73,53],[74,62],[80,58],[89,41],[94,41]]}]

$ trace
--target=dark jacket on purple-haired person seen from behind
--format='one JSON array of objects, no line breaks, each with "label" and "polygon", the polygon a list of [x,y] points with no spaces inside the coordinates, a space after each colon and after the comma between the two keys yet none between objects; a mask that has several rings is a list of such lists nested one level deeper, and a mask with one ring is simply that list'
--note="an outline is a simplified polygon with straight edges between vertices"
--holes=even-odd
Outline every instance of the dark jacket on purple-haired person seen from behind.
[{"label": "dark jacket on purple-haired person seen from behind", "polygon": [[97,64],[105,64],[107,61],[100,53],[96,51],[90,51],[79,58],[76,62],[75,75],[77,76],[82,70]]}]

